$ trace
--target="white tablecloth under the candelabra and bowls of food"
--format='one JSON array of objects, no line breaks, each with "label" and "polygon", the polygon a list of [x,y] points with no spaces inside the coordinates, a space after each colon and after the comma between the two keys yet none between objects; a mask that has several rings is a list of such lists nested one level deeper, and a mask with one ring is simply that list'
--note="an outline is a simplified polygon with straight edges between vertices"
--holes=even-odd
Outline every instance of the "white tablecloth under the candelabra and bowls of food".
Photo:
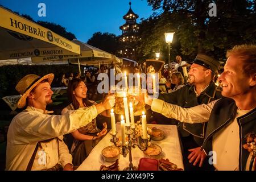
[{"label": "white tablecloth under the candelabra and bowls of food", "polygon": [[[183,168],[183,160],[182,160],[182,153],[180,148],[180,142],[179,137],[177,133],[177,127],[175,125],[148,125],[148,126],[156,126],[157,129],[161,129],[164,131],[166,137],[164,137],[163,140],[160,141],[154,141],[151,140],[151,143],[158,144],[160,147],[162,147],[162,154],[158,156],[156,159],[169,159],[170,162],[175,163],[178,168]],[[121,133],[120,130],[120,123],[117,123],[117,131],[118,136]],[[84,160],[84,162],[77,168],[79,171],[98,171],[100,170],[101,164],[104,164],[105,166],[109,166],[113,163],[105,162],[104,159],[102,159],[101,151],[103,148],[114,145],[112,142],[110,142],[110,139],[112,138],[112,135],[108,133],[98,144],[93,148],[93,150],[90,152],[89,156]],[[131,149],[131,154],[133,158],[133,165],[138,167],[139,159],[141,158],[148,158],[146,155],[144,155],[143,151],[139,150],[139,148],[136,146],[136,148]],[[129,166],[129,154],[127,154],[126,158],[123,158],[122,155],[119,156],[119,170],[123,170],[124,168]]]}]

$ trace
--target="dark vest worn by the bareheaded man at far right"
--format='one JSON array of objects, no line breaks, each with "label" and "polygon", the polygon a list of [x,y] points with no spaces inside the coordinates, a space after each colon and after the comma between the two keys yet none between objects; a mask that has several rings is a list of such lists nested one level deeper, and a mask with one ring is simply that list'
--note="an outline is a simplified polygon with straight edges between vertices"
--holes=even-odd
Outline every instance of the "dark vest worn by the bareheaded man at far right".
[{"label": "dark vest worn by the bareheaded man at far right", "polygon": [[[207,154],[212,151],[212,139],[217,131],[228,126],[236,117],[237,106],[234,100],[230,98],[222,98],[213,106],[208,121],[207,131],[203,147]],[[239,146],[239,169],[245,170],[249,152],[242,145],[246,144],[245,136],[249,133],[256,133],[256,108],[249,113],[237,118],[240,129],[240,146]]]}]

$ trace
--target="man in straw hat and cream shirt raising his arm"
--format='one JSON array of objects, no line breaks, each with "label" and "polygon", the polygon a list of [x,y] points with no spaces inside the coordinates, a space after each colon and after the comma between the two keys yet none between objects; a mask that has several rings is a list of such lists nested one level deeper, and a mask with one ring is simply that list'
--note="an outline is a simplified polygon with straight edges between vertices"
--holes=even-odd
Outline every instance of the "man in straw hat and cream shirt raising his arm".
[{"label": "man in straw hat and cream shirt raising his arm", "polygon": [[16,85],[22,94],[18,107],[25,110],[11,121],[7,134],[6,170],[72,170],[72,156],[63,142],[63,135],[87,125],[97,114],[114,106],[108,96],[95,106],[63,115],[49,115],[52,73],[40,77],[24,76]]}]

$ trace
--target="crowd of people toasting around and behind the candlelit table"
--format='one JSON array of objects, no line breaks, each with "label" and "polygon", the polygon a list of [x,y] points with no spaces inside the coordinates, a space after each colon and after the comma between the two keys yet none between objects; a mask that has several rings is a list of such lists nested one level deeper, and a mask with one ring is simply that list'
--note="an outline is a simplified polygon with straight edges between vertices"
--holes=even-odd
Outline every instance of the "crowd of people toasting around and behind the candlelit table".
[{"label": "crowd of people toasting around and behind the candlelit table", "polygon": [[[227,58],[218,77],[222,90],[214,83],[218,61],[199,53],[191,65],[176,56],[173,68],[155,69],[159,80],[166,80],[166,90],[159,90],[162,93],[158,99],[144,96],[151,106],[151,120],[177,125],[185,170],[256,170],[255,143],[245,140],[256,133],[256,46],[235,46],[227,52]],[[146,68],[129,65],[121,69],[139,73]],[[107,70],[102,65],[98,73]],[[98,129],[96,117],[110,117],[108,110],[115,98],[106,94],[100,104],[88,98],[88,85],[97,80],[96,75],[86,72],[86,78],[76,74],[66,78],[70,104],[61,115],[46,110],[52,103],[53,77],[51,73],[43,77],[30,74],[16,85],[22,95],[18,107],[24,110],[9,127],[6,170],[73,170],[108,132],[105,122]],[[63,79],[65,75],[61,82]],[[71,147],[63,135],[73,137]],[[216,152],[217,163],[208,163],[210,151]],[[43,161],[42,154],[46,156]]]}]

